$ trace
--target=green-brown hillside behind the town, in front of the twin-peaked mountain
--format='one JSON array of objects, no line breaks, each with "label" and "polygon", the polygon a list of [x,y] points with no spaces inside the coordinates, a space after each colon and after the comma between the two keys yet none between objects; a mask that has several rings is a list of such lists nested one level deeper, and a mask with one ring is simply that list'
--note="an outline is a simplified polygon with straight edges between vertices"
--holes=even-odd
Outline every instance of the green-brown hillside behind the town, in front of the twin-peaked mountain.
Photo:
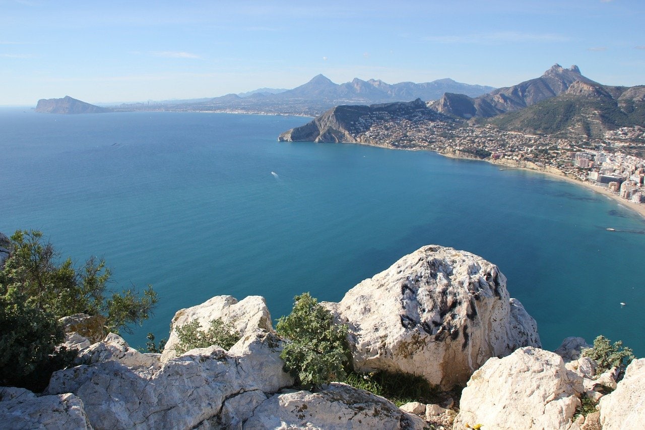
[{"label": "green-brown hillside behind the town, in front of the twin-peaked mountain", "polygon": [[603,138],[608,130],[645,127],[645,86],[611,87],[575,81],[559,96],[490,118],[501,130]]}]

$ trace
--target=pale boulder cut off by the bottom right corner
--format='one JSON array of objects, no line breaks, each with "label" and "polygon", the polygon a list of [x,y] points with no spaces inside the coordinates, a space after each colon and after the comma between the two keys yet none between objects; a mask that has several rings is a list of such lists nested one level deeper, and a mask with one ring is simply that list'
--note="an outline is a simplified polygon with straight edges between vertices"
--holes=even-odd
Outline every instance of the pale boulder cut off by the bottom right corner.
[{"label": "pale boulder cut off by the bottom right corner", "polygon": [[600,399],[603,430],[628,430],[645,423],[645,358],[632,360],[615,391]]}]

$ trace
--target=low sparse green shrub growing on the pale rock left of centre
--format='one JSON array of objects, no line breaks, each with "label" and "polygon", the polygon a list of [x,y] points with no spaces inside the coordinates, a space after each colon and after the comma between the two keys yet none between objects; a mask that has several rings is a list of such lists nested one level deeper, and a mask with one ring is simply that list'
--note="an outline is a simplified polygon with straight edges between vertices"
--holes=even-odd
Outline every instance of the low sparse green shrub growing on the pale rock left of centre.
[{"label": "low sparse green shrub growing on the pale rock left of centre", "polygon": [[179,345],[175,347],[175,351],[183,354],[191,349],[206,348],[211,345],[218,345],[228,350],[240,340],[240,334],[235,331],[235,327],[231,323],[224,323],[222,318],[212,320],[206,331],[200,328],[201,324],[197,320],[177,327],[175,333],[179,338]]}]

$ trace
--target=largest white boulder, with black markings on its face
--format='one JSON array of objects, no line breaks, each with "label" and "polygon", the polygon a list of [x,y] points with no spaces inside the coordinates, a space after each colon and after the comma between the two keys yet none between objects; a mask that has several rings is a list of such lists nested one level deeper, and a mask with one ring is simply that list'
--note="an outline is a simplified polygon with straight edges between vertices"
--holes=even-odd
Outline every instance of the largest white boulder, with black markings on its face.
[{"label": "largest white boulder, with black markings on its face", "polygon": [[535,320],[509,298],[496,265],[438,245],[322,304],[348,323],[355,369],[422,375],[444,389],[465,384],[488,358],[541,346]]}]

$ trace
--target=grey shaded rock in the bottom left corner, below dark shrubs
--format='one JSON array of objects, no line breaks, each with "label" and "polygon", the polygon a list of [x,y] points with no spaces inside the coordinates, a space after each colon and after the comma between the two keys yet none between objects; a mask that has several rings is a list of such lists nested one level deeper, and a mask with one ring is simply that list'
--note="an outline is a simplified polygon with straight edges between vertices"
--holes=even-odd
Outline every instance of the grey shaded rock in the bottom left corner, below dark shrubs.
[{"label": "grey shaded rock in the bottom left corner, below dark shrubs", "polygon": [[0,423],[5,429],[92,429],[74,394],[37,397],[14,387],[0,387]]}]

